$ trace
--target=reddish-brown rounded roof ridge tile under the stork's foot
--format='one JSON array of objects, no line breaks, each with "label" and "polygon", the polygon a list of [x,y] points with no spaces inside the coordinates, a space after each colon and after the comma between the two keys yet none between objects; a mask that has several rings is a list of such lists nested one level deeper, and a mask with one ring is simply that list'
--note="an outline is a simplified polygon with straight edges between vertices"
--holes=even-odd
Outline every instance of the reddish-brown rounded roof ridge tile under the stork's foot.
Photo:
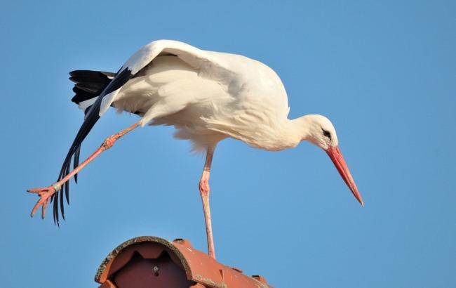
[{"label": "reddish-brown rounded roof ridge tile under the stork's foot", "polygon": [[[95,281],[102,284],[100,287],[103,288],[122,288],[130,287],[127,285],[128,279],[143,279],[149,281],[148,287],[154,287],[151,286],[152,283],[155,283],[153,282],[155,280],[152,279],[154,277],[146,276],[145,273],[152,275],[151,266],[159,263],[157,261],[162,261],[161,265],[163,265],[163,259],[169,262],[166,264],[167,277],[174,275],[175,282],[180,281],[178,280],[180,277],[185,278],[182,281],[187,281],[187,284],[180,284],[181,286],[173,284],[169,287],[270,287],[264,277],[248,277],[238,268],[224,266],[208,254],[194,249],[187,240],[168,242],[162,238],[150,236],[135,237],[116,247],[100,265],[95,275]],[[154,269],[158,269],[157,267]],[[173,272],[169,272],[171,270]],[[161,280],[163,279],[165,277],[161,277]],[[138,284],[131,287],[138,287]]]}]

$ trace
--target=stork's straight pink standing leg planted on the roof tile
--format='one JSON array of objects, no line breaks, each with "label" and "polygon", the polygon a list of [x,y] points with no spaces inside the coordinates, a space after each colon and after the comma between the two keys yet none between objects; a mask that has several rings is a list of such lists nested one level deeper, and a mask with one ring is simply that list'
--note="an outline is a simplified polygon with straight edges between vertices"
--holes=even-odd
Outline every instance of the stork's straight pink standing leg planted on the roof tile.
[{"label": "stork's straight pink standing leg planted on the roof tile", "polygon": [[199,181],[199,194],[201,195],[201,200],[203,200],[203,211],[204,211],[204,221],[206,221],[206,235],[208,237],[208,252],[209,255],[215,258],[215,247],[214,239],[212,233],[212,221],[210,220],[210,205],[209,205],[209,176],[210,176],[210,164],[212,164],[212,158],[214,155],[215,147],[208,148],[206,154],[206,162],[204,163],[203,174],[201,175],[201,180]]}]

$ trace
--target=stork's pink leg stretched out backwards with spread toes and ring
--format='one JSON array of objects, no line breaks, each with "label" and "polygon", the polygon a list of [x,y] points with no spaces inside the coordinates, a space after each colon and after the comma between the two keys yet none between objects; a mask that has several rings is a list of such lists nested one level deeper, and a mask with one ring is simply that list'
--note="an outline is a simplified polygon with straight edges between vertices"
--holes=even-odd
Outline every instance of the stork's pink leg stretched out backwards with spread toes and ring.
[{"label": "stork's pink leg stretched out backwards with spread toes and ring", "polygon": [[105,141],[103,141],[100,148],[95,150],[95,152],[93,152],[93,154],[90,155],[90,157],[88,157],[86,159],[86,161],[82,162],[73,171],[71,171],[65,178],[62,178],[62,180],[60,180],[56,183],[53,183],[51,186],[46,187],[46,188],[33,188],[33,189],[27,190],[27,192],[36,193],[40,197],[39,200],[36,202],[35,206],[33,207],[32,213],[30,213],[30,216],[33,217],[34,214],[36,213],[36,211],[41,206],[41,218],[44,218],[44,216],[46,214],[46,207],[48,206],[48,202],[50,200],[49,198],[55,192],[58,192],[60,189],[62,189],[62,185],[64,185],[65,182],[69,181],[69,179],[72,178],[72,176],[74,176],[74,174],[79,173],[79,171],[81,171],[87,164],[92,162],[92,160],[95,159],[96,157],[98,157],[98,155],[100,155],[102,152],[104,152],[105,150],[108,150],[109,148],[112,148],[114,143],[116,143],[117,139],[121,138],[126,133],[132,131],[139,125],[140,125],[139,123],[135,123],[132,126],[129,126],[127,129],[124,129],[124,130],[120,131],[119,133],[116,133],[116,134],[106,138]]}]

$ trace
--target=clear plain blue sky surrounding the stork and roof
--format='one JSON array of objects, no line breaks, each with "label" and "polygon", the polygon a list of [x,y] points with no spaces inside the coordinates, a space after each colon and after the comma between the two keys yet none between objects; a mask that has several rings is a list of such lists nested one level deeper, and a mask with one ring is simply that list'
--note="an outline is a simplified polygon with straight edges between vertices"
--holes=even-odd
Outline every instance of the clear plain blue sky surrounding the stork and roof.
[{"label": "clear plain blue sky surrounding the stork and roof", "polygon": [[[276,70],[290,117],[332,119],[366,202],[313,145],[224,140],[211,178],[219,261],[275,287],[456,286],[455,1],[65,2],[1,3],[2,287],[98,287],[106,254],[140,235],[206,249],[203,158],[169,127],[90,164],[60,228],[29,218],[25,190],[57,178],[83,119],[67,72],[115,72],[155,39]],[[82,155],[136,120],[105,114]]]}]

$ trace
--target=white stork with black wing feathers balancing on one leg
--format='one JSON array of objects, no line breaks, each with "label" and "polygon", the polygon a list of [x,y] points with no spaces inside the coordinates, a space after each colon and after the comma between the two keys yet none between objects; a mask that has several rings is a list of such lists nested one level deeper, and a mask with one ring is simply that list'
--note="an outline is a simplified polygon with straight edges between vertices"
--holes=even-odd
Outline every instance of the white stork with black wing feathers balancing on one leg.
[{"label": "white stork with black wing feathers balancing on one leg", "polygon": [[[69,180],[119,138],[138,127],[169,125],[175,138],[187,139],[192,150],[206,155],[199,194],[206,222],[208,254],[215,258],[210,216],[210,167],[217,143],[234,138],[253,148],[279,151],[308,141],[323,149],[349,190],[364,206],[354,178],[338,146],[335,128],[320,114],[288,119],[286,89],[270,67],[243,55],[205,51],[181,41],[157,40],[140,48],[118,72],[75,70],[75,96],[85,116],[60,169],[58,180],[46,188],[33,188],[41,217],[53,202],[54,222],[65,219],[64,197],[69,204]],[[128,128],[106,138],[100,148],[79,164],[81,144],[98,119],[109,109],[138,114]],[[70,167],[73,164],[73,170]]]}]

